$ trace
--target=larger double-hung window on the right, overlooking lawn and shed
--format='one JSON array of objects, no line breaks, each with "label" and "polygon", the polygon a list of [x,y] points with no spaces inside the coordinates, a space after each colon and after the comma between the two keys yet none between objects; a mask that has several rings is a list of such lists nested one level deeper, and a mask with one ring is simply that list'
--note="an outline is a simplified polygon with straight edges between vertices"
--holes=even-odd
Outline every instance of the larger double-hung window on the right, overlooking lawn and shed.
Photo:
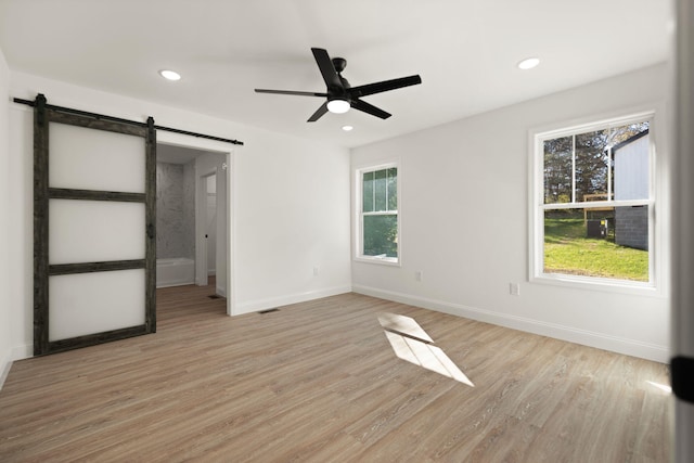
[{"label": "larger double-hung window on the right, overlooking lawn and shed", "polygon": [[535,134],[534,278],[654,286],[652,116]]}]

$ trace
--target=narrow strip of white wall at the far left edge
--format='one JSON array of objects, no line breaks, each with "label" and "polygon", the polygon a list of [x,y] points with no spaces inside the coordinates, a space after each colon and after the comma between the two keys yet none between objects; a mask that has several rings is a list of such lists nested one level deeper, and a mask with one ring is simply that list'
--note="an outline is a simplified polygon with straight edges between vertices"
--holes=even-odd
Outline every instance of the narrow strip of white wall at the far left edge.
[{"label": "narrow strip of white wall at the far left edge", "polygon": [[12,343],[10,340],[10,298],[9,275],[10,262],[8,253],[10,242],[8,221],[10,210],[10,143],[9,143],[9,87],[10,69],[0,50],[0,387],[7,376],[12,361]]}]

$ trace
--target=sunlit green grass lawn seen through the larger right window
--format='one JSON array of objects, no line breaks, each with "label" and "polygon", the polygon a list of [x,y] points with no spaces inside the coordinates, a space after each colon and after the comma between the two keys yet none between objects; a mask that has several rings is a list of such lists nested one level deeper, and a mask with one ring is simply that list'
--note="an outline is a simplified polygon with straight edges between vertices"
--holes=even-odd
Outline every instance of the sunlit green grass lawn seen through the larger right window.
[{"label": "sunlit green grass lawn seen through the larger right window", "polygon": [[544,272],[648,281],[648,252],[586,237],[582,218],[545,219]]}]

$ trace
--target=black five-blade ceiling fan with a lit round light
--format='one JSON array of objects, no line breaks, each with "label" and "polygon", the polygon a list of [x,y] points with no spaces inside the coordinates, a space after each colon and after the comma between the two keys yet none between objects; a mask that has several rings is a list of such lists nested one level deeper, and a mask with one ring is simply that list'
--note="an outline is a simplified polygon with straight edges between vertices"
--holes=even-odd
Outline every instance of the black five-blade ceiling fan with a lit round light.
[{"label": "black five-blade ceiling fan with a lit round light", "polygon": [[342,72],[347,66],[347,60],[343,57],[333,57],[331,60],[327,51],[322,48],[312,48],[313,57],[318,64],[318,68],[321,70],[326,92],[301,92],[293,90],[267,90],[256,89],[258,93],[277,93],[277,94],[295,94],[301,97],[321,97],[325,98],[325,102],[308,118],[308,123],[317,121],[323,114],[327,113],[346,113],[350,107],[371,114],[372,116],[387,119],[390,117],[390,113],[376,107],[372,104],[361,100],[361,97],[367,97],[374,93],[381,93],[388,90],[395,90],[402,87],[414,86],[422,83],[422,78],[419,75],[401,77],[399,79],[383,80],[381,82],[367,83],[365,86],[351,87],[346,78],[342,76]]}]

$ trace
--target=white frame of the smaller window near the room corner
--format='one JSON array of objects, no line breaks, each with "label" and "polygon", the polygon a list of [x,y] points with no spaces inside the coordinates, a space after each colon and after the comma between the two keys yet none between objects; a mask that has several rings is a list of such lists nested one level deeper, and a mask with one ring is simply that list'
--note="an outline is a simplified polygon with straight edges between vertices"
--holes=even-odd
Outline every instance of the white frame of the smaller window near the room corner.
[{"label": "white frame of the smaller window near the room corner", "polygon": [[[398,178],[396,181],[397,184],[397,189],[398,189],[398,208],[397,210],[393,211],[389,210],[387,213],[365,213],[367,215],[396,215],[397,216],[397,223],[398,223],[398,234],[397,234],[397,246],[398,246],[398,257],[381,257],[381,256],[365,256],[364,255],[364,245],[363,245],[363,231],[364,231],[364,213],[363,213],[363,175],[367,172],[373,172],[376,170],[384,170],[384,169],[390,169],[390,168],[396,168],[398,169]],[[355,260],[358,261],[362,261],[362,262],[370,262],[370,263],[381,263],[381,265],[385,265],[385,266],[396,266],[396,267],[400,267],[400,261],[402,260],[402,256],[401,256],[401,241],[400,241],[400,233],[401,233],[401,227],[400,227],[400,197],[401,197],[401,193],[402,190],[400,188],[400,183],[401,183],[401,171],[400,171],[400,163],[397,160],[393,160],[393,162],[388,162],[388,163],[383,163],[383,164],[375,164],[375,165],[369,165],[369,166],[362,166],[359,167],[357,169],[355,169],[355,214],[356,214],[356,227],[355,227]]]}]

